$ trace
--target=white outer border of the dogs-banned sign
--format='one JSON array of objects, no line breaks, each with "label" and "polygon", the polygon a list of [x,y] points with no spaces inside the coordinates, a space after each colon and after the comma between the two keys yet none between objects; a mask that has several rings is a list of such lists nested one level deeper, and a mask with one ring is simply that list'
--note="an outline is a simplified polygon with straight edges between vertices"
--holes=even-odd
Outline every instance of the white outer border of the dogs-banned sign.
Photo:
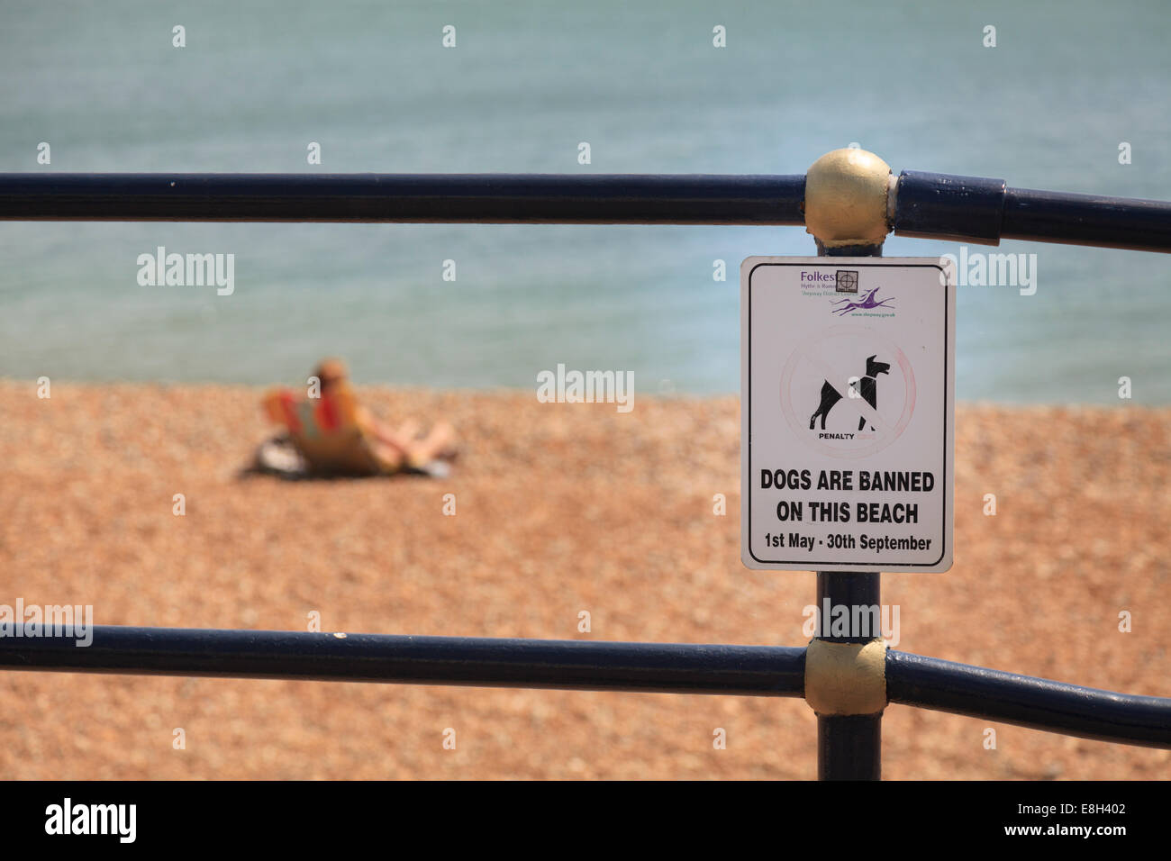
[{"label": "white outer border of the dogs-banned sign", "polygon": [[[891,560],[876,562],[822,562],[802,560],[797,562],[765,562],[752,554],[749,545],[749,527],[752,524],[752,446],[749,429],[752,421],[752,369],[749,358],[751,313],[752,313],[752,273],[760,266],[817,266],[817,267],[932,267],[947,279],[947,296],[945,302],[944,343],[947,367],[945,370],[945,415],[944,415],[944,463],[943,467],[943,540],[940,558],[931,563],[904,562]],[[940,285],[940,289],[945,289]],[[740,265],[740,558],[745,567],[756,570],[840,570],[854,573],[875,572],[945,572],[952,567],[954,533],[954,452],[956,452],[956,285],[950,268],[945,268],[938,258],[875,258],[875,257],[751,257]]]}]

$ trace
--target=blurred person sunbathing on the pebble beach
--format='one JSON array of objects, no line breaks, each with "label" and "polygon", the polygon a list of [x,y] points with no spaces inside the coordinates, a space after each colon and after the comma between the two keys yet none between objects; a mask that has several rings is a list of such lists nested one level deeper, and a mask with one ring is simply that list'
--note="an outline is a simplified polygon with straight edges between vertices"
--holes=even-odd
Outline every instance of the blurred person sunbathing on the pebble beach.
[{"label": "blurred person sunbathing on the pebble beach", "polygon": [[379,422],[358,404],[340,360],[323,361],[313,375],[317,382],[307,398],[287,388],[266,392],[265,414],[285,428],[287,437],[261,445],[256,469],[288,476],[447,474],[446,462],[456,456],[451,425],[437,424],[419,437],[413,422],[397,430]]}]

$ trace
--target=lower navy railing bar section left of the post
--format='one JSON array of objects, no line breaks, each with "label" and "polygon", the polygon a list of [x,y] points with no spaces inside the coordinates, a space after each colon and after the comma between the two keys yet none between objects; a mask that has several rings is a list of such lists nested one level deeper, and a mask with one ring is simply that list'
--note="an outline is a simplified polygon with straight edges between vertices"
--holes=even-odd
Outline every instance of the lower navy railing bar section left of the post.
[{"label": "lower navy railing bar section left of the post", "polygon": [[[27,627],[21,627],[27,630]],[[0,669],[656,693],[804,693],[804,649],[96,626],[0,637]]]}]

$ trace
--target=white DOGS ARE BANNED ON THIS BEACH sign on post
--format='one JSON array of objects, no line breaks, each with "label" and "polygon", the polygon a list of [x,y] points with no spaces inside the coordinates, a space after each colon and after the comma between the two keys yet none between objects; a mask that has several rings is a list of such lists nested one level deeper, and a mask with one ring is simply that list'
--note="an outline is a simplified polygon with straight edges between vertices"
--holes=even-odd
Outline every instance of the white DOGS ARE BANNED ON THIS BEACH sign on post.
[{"label": "white DOGS ARE BANNED ON THIS BEACH sign on post", "polygon": [[951,269],[936,258],[748,258],[740,320],[744,563],[951,568]]}]

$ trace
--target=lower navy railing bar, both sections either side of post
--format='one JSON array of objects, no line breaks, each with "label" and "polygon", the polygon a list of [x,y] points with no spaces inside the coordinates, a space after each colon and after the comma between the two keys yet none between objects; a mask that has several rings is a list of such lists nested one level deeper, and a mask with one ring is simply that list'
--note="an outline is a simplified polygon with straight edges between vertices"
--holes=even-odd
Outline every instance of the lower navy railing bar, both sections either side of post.
[{"label": "lower navy railing bar, both sections either side of post", "polygon": [[[735,696],[804,695],[804,649],[97,626],[0,636],[0,669]],[[83,641],[81,641],[83,642]],[[1171,747],[1171,698],[1132,696],[890,650],[891,703]]]}]

